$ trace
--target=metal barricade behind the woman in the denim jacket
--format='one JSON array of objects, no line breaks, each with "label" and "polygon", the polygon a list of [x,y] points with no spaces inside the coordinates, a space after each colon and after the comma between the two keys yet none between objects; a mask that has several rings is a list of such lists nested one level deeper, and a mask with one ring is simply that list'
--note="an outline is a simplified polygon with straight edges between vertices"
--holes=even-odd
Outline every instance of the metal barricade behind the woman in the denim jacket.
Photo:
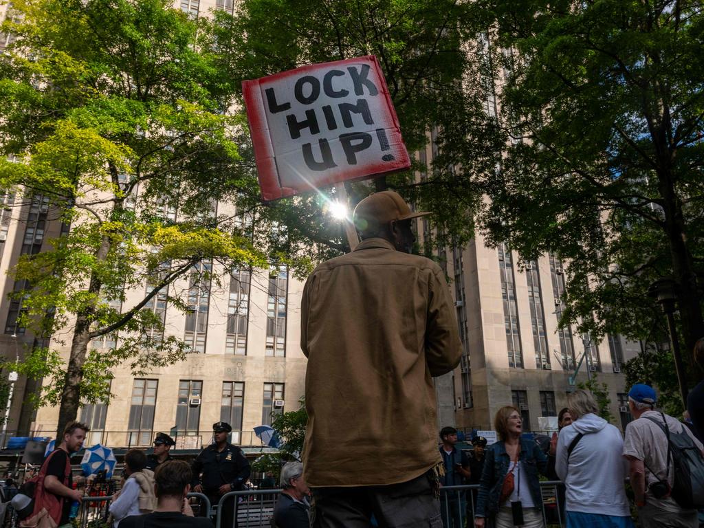
[{"label": "metal barricade behind the woman in the denim jacket", "polygon": [[[546,525],[565,526],[565,508],[562,499],[565,486],[559,480],[546,480],[540,482],[541,511]],[[474,508],[477,505],[479,484],[465,484],[463,486],[442,486],[440,488],[440,513],[444,526],[472,526],[474,524]]]}]

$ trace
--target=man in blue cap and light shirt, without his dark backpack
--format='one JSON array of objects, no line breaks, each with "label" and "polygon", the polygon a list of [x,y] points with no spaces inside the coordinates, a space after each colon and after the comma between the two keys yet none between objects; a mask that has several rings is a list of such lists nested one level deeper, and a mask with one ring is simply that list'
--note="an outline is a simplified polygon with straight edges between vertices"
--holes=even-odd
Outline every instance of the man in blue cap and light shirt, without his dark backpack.
[{"label": "man in blue cap and light shirt, without his dark backpack", "polygon": [[629,460],[631,486],[641,528],[697,528],[696,510],[681,508],[670,495],[674,484],[665,426],[670,434],[689,434],[698,449],[703,446],[679,420],[655,410],[653,387],[636,383],[628,393],[634,421],[626,427],[623,455]]}]

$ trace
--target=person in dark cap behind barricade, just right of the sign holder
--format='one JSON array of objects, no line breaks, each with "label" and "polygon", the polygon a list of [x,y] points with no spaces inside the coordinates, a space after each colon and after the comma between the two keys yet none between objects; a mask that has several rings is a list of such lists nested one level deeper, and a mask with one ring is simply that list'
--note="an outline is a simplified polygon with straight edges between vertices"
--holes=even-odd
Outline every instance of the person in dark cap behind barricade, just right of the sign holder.
[{"label": "person in dark cap behind barricade, just right of the sign holder", "polygon": [[[470,458],[464,451],[455,447],[457,429],[443,427],[440,431],[440,455],[445,465],[445,474],[440,479],[441,486],[462,486],[470,478]],[[440,513],[445,528],[463,528],[463,516],[467,511],[467,498],[464,490],[449,490],[440,496]]]}]

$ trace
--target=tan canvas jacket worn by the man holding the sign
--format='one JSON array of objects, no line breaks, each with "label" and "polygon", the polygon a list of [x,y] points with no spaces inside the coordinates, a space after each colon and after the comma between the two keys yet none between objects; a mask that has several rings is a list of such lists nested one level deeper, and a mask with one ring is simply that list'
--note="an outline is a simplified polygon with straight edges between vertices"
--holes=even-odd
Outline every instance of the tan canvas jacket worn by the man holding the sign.
[{"label": "tan canvas jacket worn by the man holding the sign", "polygon": [[436,263],[378,238],[322,263],[303,289],[301,348],[309,486],[396,484],[441,461],[432,377],[461,349]]}]

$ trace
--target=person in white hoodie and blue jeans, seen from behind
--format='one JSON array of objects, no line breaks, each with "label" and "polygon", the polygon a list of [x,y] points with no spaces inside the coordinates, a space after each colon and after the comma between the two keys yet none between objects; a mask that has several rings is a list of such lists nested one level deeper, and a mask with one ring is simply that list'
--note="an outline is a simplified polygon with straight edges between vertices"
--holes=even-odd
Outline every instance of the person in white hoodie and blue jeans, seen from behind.
[{"label": "person in white hoodie and blue jeans, seen from behind", "polygon": [[598,416],[587,391],[567,397],[572,425],[560,431],[555,471],[565,482],[567,528],[632,528],[620,431]]}]

